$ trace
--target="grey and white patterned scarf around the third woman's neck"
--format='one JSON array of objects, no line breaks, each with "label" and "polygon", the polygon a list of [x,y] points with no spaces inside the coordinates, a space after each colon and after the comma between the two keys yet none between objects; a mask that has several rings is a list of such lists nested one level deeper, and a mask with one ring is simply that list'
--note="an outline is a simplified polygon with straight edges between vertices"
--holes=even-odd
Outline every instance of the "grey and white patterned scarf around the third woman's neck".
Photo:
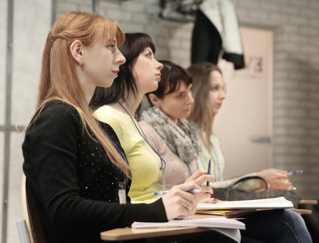
[{"label": "grey and white patterned scarf around the third woman's neck", "polygon": [[156,106],[142,112],[141,120],[150,124],[168,147],[185,163],[197,159],[201,153],[195,128],[186,119],[177,124]]}]

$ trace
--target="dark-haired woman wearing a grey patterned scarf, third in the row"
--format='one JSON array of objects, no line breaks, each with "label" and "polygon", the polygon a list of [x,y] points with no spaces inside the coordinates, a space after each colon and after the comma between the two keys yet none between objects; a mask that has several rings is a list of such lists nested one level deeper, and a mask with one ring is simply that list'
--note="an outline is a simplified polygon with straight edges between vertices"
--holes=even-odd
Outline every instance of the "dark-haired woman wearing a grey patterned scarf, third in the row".
[{"label": "dark-haired woman wearing a grey patterned scarf, third in the row", "polygon": [[185,119],[194,102],[192,77],[170,61],[161,63],[161,82],[157,90],[146,94],[151,107],[142,112],[139,124],[152,147],[167,161],[166,187],[171,188],[199,169],[201,147],[196,130]]}]

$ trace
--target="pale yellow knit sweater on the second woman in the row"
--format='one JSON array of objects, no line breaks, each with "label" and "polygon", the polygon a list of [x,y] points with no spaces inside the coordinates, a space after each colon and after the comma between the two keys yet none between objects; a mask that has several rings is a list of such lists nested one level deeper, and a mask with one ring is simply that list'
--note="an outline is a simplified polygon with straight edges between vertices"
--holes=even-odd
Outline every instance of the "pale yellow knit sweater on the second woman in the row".
[{"label": "pale yellow knit sweater on the second woman in the row", "polygon": [[134,118],[133,122],[128,115],[109,105],[99,107],[93,116],[112,126],[125,151],[132,173],[132,183],[128,192],[131,202],[151,203],[157,200],[159,197],[154,197],[153,194],[161,191],[157,183],[162,176],[161,159],[138,132],[134,125],[135,122],[141,131],[138,122]]}]

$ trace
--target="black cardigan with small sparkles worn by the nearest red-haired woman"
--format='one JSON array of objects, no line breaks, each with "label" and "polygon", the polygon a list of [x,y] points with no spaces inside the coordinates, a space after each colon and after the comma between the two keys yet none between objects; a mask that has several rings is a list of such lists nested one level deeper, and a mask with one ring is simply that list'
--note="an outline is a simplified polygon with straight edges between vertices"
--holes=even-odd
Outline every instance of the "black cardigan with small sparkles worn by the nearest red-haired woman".
[{"label": "black cardigan with small sparkles worn by the nearest red-haired woman", "polygon": [[[124,153],[112,127],[100,125]],[[162,199],[131,204],[127,196],[128,203],[118,203],[123,174],[83,130],[74,107],[63,101],[44,106],[26,131],[22,150],[23,171],[48,242],[99,242],[101,231],[134,221],[167,221]],[[126,193],[129,185],[130,180]]]}]

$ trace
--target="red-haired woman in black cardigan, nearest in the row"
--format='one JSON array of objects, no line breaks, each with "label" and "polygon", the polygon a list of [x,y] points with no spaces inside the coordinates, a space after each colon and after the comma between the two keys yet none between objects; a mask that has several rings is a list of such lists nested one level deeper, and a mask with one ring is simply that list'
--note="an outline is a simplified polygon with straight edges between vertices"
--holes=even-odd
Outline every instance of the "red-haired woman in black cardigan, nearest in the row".
[{"label": "red-haired woman in black cardigan, nearest in the row", "polygon": [[196,199],[187,191],[200,187],[192,182],[152,204],[130,204],[124,151],[111,126],[92,117],[95,88],[110,87],[125,63],[117,48],[123,41],[115,21],[92,13],[64,13],[48,33],[22,150],[49,243],[101,242],[101,231],[194,213]]}]

